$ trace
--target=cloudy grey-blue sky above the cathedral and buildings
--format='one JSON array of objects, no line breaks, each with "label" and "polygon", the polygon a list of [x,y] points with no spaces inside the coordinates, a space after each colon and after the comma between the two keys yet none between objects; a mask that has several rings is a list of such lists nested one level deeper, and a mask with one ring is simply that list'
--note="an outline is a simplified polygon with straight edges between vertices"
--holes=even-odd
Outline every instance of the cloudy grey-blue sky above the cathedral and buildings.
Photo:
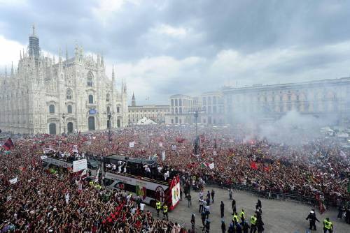
[{"label": "cloudy grey-blue sky above the cathedral and buildings", "polygon": [[[36,24],[41,49],[103,52],[138,104],[244,87],[349,77],[350,1],[0,0],[0,66]],[[149,100],[146,100],[149,98]]]}]

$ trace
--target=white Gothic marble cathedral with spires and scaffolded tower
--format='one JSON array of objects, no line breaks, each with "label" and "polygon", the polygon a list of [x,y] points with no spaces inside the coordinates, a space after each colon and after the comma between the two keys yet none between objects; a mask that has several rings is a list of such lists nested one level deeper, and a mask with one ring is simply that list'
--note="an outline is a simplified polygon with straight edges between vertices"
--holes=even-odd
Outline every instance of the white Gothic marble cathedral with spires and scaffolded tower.
[{"label": "white Gothic marble cathedral with spires and scaffolded tower", "polygon": [[13,133],[61,133],[106,130],[127,126],[127,86],[116,88],[106,75],[104,57],[85,55],[76,45],[65,59],[59,50],[44,57],[39,38],[29,36],[18,67],[0,75],[0,129]]}]

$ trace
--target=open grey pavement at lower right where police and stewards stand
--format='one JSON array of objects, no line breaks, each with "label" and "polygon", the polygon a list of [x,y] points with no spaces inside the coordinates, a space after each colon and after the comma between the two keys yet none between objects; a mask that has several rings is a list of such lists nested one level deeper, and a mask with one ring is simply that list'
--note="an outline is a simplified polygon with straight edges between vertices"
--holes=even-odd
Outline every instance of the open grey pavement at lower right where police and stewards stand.
[{"label": "open grey pavement at lower right where police and stewards stand", "polygon": [[[206,195],[207,190],[211,190],[208,186],[204,190]],[[221,188],[214,188],[215,190],[215,202],[210,204],[211,214],[209,220],[211,220],[211,232],[221,232],[221,216],[220,216],[220,204],[221,201],[225,204],[225,223],[226,228],[232,220],[232,208],[231,201],[229,200],[228,190]],[[188,208],[188,201],[183,199],[178,206],[169,213],[169,220],[188,223],[190,227],[191,214],[195,213],[196,225],[202,225],[200,218],[198,195],[199,193],[191,190],[192,206]],[[255,203],[258,197],[245,191],[234,190],[233,197],[236,200],[237,213],[244,209],[246,218],[250,219],[251,215],[255,211]],[[260,198],[262,202],[262,221],[265,223],[265,233],[305,233],[309,227],[309,221],[305,220],[311,206],[306,204],[300,204],[293,201],[282,200],[267,200]],[[147,206],[146,209],[151,207]],[[154,210],[153,210],[154,211]],[[316,209],[316,217],[321,223],[316,222],[317,231],[311,232],[323,232],[323,219],[330,218],[334,225],[333,233],[350,233],[350,225],[342,221],[337,220],[337,210],[328,210],[322,215]],[[250,221],[248,221],[250,223]]]}]

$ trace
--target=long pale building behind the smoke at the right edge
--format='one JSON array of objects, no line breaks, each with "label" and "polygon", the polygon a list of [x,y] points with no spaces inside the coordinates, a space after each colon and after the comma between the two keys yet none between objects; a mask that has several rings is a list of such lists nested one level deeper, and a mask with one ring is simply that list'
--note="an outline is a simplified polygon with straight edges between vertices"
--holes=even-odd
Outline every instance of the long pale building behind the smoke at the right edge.
[{"label": "long pale building behind the smoke at the right edge", "polygon": [[314,117],[350,119],[350,77],[290,84],[225,87],[225,121],[233,123],[247,117],[279,119],[290,111]]}]

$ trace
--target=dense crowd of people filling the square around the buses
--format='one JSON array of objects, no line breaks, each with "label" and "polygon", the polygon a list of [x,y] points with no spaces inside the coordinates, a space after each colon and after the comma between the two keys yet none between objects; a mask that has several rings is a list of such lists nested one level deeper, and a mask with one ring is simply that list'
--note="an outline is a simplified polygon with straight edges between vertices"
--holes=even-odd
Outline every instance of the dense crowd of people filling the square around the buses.
[{"label": "dense crowd of people filling the square around the buses", "polygon": [[[153,158],[163,169],[198,177],[191,181],[198,190],[209,181],[235,183],[262,192],[316,197],[324,200],[325,206],[337,203],[344,211],[350,209],[346,190],[349,151],[342,151],[335,140],[319,137],[288,145],[244,132],[230,127],[200,128],[197,154],[193,151],[195,132],[190,126],[123,128],[113,131],[111,140],[106,132],[17,135],[13,138],[15,149],[0,156],[0,230],[96,232],[117,231],[127,225],[129,232],[140,232],[143,227],[174,228],[173,223],[155,220],[146,213],[132,213],[135,202],[126,200],[125,193],[113,193],[113,202],[105,202],[103,188],[77,184],[76,177],[64,172],[45,172],[40,156],[48,147],[58,151],[55,156],[69,160],[83,154],[97,160],[111,154]],[[124,172],[124,168],[121,165],[119,170],[116,165],[115,171]],[[17,181],[9,182],[14,178]],[[110,217],[112,213],[114,218]]]}]

